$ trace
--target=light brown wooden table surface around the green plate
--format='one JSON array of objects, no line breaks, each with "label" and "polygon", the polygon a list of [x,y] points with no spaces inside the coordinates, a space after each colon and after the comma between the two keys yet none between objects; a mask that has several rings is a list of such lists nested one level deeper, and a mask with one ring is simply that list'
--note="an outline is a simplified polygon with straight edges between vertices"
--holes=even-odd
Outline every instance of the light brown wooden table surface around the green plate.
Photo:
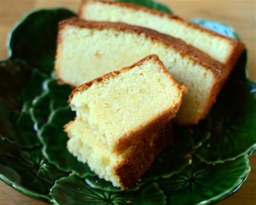
[{"label": "light brown wooden table surface around the green plate", "polygon": [[[205,18],[233,26],[250,52],[250,76],[256,80],[255,0],[162,0],[185,19]],[[0,0],[0,59],[7,57],[6,37],[24,13],[39,8],[63,6],[78,10],[80,0]],[[256,134],[256,133],[255,133]],[[256,154],[250,158],[251,174],[245,184],[219,204],[256,204]],[[44,204],[30,199],[0,182],[0,204]]]}]

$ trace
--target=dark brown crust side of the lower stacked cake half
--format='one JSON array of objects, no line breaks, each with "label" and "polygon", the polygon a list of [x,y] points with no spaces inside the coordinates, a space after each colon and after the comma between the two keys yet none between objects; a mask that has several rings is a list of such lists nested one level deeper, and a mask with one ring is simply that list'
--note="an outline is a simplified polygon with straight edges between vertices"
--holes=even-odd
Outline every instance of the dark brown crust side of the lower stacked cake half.
[{"label": "dark brown crust side of the lower stacked cake half", "polygon": [[114,167],[114,173],[119,177],[121,188],[125,190],[136,184],[140,176],[152,165],[159,152],[172,142],[171,122],[141,140],[126,159]]}]

